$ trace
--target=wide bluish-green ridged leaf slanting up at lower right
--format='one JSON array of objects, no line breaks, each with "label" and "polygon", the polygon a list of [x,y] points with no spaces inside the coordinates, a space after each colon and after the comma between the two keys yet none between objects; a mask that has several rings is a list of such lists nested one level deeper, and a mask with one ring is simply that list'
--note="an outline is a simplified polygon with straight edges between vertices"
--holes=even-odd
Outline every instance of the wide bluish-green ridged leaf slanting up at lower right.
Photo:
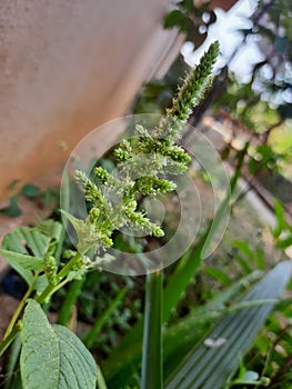
[{"label": "wide bluish-green ridged leaf slanting up at lower right", "polygon": [[[290,261],[279,263],[243,299],[245,302],[279,297],[292,271]],[[194,345],[167,382],[167,389],[222,388],[253,343],[273,306],[249,307],[229,313],[208,338]],[[222,340],[219,345],[219,340]],[[208,341],[208,342],[207,342]],[[210,346],[213,342],[214,346]]]}]

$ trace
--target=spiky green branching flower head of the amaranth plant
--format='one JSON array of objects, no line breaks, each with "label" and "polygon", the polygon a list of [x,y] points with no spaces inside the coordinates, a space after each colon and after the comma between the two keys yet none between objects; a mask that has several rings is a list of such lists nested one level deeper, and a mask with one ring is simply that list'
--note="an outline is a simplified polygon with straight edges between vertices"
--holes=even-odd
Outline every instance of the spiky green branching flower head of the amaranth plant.
[{"label": "spiky green branching flower head of the amaranth plant", "polygon": [[172,101],[172,108],[151,131],[137,124],[134,137],[123,140],[114,150],[115,176],[105,169],[93,169],[93,182],[83,172],[75,178],[82,188],[91,209],[85,221],[64,212],[78,235],[78,250],[81,255],[89,249],[108,248],[113,245],[114,230],[127,227],[144,235],[162,237],[163,230],[138,209],[138,199],[143,196],[159,196],[175,189],[168,174],[181,174],[188,170],[190,156],[175,144],[181,129],[192,108],[203,98],[212,82],[211,72],[219,54],[214,42],[200,63],[185,77],[182,87]]}]

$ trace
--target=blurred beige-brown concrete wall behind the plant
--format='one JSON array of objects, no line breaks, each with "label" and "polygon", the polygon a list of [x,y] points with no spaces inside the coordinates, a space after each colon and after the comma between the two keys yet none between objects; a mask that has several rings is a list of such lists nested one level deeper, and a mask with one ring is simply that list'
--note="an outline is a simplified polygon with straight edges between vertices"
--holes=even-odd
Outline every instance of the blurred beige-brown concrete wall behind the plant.
[{"label": "blurred beige-brown concrete wall behind the plant", "polygon": [[177,37],[161,28],[168,9],[167,0],[1,0],[0,197],[14,179],[60,173],[85,133],[127,112],[165,67]]}]

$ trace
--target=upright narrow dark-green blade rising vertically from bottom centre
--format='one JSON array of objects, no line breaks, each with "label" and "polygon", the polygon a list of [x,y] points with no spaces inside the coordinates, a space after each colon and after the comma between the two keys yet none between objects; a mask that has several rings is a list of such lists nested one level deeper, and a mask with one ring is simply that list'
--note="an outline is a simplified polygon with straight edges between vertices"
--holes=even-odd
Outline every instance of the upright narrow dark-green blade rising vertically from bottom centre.
[{"label": "upright narrow dark-green blade rising vertically from bottom centre", "polygon": [[162,389],[162,273],[147,275],[141,389]]}]

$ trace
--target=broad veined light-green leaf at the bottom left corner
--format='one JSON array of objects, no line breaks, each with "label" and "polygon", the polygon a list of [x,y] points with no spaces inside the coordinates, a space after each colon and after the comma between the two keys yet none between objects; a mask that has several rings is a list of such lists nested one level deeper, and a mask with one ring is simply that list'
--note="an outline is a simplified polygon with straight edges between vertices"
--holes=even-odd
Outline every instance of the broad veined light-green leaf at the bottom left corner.
[{"label": "broad veined light-green leaf at the bottom left corner", "polygon": [[81,340],[62,326],[51,326],[40,305],[29,300],[21,331],[23,389],[93,389],[98,370]]}]

